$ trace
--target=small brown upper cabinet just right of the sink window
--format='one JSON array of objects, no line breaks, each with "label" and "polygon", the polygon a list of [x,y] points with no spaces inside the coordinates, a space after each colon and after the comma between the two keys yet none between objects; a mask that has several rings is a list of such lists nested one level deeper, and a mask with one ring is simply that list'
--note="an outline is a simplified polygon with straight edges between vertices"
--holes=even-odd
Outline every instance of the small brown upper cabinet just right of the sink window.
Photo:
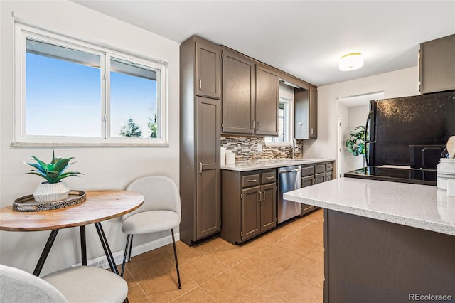
[{"label": "small brown upper cabinet just right of the sink window", "polygon": [[308,90],[294,90],[294,137],[316,139],[318,137],[318,91],[309,86]]}]

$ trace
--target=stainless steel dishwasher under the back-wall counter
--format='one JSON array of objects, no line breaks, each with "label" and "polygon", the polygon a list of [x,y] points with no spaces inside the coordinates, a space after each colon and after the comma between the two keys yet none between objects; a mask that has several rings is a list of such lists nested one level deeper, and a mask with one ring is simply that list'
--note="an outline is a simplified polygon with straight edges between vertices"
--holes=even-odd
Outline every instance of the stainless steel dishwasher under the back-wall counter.
[{"label": "stainless steel dishwasher under the back-wall counter", "polygon": [[278,169],[277,223],[300,216],[300,203],[283,199],[283,193],[301,188],[301,166],[286,166]]}]

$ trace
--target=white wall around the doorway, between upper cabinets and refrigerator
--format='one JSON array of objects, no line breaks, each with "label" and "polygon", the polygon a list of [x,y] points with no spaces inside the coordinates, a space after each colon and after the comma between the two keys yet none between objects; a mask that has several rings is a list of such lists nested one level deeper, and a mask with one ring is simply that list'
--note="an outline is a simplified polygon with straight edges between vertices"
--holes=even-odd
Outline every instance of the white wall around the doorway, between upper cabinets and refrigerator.
[{"label": "white wall around the doorway, between upper cabinets and refrigerator", "polygon": [[304,156],[338,161],[337,98],[380,91],[384,98],[419,95],[418,80],[419,70],[414,67],[318,87],[318,139],[305,142]]}]

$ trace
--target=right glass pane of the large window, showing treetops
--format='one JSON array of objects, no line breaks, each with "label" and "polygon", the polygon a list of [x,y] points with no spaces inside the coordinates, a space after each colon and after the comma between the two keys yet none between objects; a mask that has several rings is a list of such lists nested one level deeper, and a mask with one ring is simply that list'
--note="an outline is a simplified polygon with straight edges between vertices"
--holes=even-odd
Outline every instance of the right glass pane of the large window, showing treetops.
[{"label": "right glass pane of the large window, showing treetops", "polygon": [[111,60],[111,137],[161,137],[157,74],[159,70],[144,65]]}]

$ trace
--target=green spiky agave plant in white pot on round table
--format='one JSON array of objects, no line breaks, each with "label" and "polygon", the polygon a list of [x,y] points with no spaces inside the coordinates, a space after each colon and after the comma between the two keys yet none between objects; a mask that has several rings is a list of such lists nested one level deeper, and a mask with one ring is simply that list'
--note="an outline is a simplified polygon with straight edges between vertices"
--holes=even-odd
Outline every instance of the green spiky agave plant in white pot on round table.
[{"label": "green spiky agave plant in white pot on round table", "polygon": [[70,165],[75,163],[70,163],[71,159],[74,159],[74,157],[55,158],[54,149],[52,149],[52,160],[50,163],[45,163],[36,156],[31,156],[31,158],[34,159],[36,163],[24,162],[24,164],[33,166],[35,169],[26,171],[24,174],[34,174],[45,179],[45,181],[41,182],[41,184],[39,184],[33,192],[33,198],[35,198],[35,201],[38,203],[46,203],[63,201],[68,198],[70,187],[65,181],[63,181],[63,179],[69,176],[78,176],[82,174],[78,171],[65,172]]}]

